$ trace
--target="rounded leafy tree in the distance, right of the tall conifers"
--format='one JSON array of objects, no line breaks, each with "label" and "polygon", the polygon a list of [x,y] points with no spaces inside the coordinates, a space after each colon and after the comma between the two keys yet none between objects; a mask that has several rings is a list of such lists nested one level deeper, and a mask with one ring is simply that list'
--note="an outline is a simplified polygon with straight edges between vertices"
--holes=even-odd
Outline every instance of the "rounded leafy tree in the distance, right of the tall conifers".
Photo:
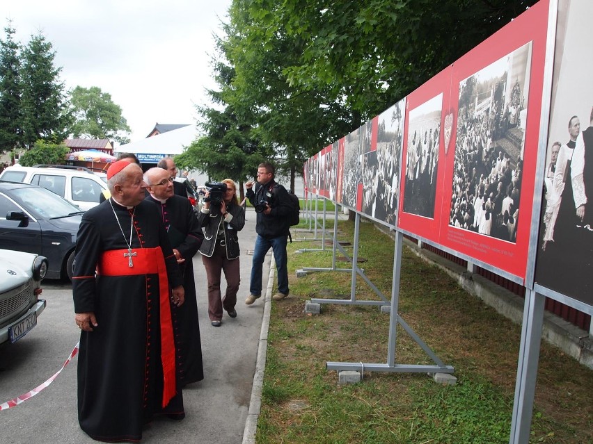
[{"label": "rounded leafy tree in the distance, right of the tall conifers", "polygon": [[111,94],[97,86],[74,88],[70,92],[70,110],[74,119],[72,137],[117,140],[121,145],[129,142],[125,135],[131,130],[122,108],[113,103]]}]

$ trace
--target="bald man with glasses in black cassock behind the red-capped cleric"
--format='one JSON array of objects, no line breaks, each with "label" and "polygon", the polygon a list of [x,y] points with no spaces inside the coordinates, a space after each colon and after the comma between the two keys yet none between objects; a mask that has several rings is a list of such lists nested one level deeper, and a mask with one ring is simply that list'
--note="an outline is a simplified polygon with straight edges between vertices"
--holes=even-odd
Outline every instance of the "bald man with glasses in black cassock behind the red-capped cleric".
[{"label": "bald man with glasses in black cassock behind the red-capped cleric", "polygon": [[202,343],[198,324],[198,302],[196,283],[193,280],[193,255],[198,252],[204,234],[198,224],[196,213],[187,197],[173,194],[171,174],[162,168],[150,168],[144,174],[150,195],[146,200],[153,202],[159,210],[173,253],[183,274],[185,303],[173,311],[175,349],[177,350],[177,376],[183,387],[204,379],[202,366]]}]

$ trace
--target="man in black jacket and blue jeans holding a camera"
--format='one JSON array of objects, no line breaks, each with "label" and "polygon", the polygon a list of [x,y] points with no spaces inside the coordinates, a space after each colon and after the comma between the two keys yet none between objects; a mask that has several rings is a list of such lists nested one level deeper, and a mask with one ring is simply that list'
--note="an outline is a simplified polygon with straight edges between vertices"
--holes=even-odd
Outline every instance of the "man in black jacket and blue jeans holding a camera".
[{"label": "man in black jacket and blue jeans holding a camera", "polygon": [[291,211],[290,197],[286,189],[274,181],[274,165],[270,163],[260,163],[257,181],[255,191],[252,189],[253,181],[245,184],[246,197],[257,214],[255,231],[258,232],[253,248],[250,295],[245,299],[247,305],[253,304],[262,295],[262,268],[270,248],[274,252],[278,272],[278,293],[272,299],[279,301],[288,296],[286,244],[290,228],[287,220]]}]

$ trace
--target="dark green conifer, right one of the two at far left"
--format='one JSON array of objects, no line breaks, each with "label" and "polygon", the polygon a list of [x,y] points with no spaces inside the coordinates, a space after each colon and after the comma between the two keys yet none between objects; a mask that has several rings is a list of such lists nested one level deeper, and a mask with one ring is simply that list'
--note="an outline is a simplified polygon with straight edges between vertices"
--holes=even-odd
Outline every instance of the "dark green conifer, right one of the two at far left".
[{"label": "dark green conifer, right one of the two at far left", "polygon": [[38,140],[61,142],[68,135],[70,116],[65,103],[61,67],[56,53],[42,34],[31,36],[22,50],[22,116],[24,145]]}]

